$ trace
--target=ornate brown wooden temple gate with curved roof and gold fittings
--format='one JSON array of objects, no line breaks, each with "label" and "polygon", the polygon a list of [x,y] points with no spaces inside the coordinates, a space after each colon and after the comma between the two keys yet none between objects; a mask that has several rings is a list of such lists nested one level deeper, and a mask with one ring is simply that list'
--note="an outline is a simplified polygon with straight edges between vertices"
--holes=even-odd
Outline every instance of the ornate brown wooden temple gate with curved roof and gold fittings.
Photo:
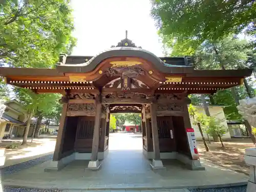
[{"label": "ornate brown wooden temple gate with curved roof and gold fittings", "polygon": [[[193,59],[157,57],[127,38],[95,56],[60,55],[54,69],[0,68],[12,86],[37,94],[60,93],[63,103],[56,147],[46,169],[77,159],[98,169],[108,158],[111,113],[141,113],[143,154],[152,168],[178,159],[204,169],[191,129],[189,94],[214,94],[239,86],[252,70],[195,70]],[[102,165],[104,166],[104,165]]]}]

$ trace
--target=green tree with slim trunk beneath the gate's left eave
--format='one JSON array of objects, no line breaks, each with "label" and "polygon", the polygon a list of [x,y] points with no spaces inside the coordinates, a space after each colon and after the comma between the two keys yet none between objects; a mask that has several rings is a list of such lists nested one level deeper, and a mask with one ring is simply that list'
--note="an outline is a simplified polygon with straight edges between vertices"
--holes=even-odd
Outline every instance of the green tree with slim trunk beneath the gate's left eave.
[{"label": "green tree with slim trunk beneath the gate's left eave", "polygon": [[35,94],[30,90],[15,88],[15,98],[25,106],[28,114],[27,126],[24,131],[22,145],[27,144],[28,133],[31,124],[31,118],[37,111],[49,113],[53,106],[58,102],[57,94]]}]

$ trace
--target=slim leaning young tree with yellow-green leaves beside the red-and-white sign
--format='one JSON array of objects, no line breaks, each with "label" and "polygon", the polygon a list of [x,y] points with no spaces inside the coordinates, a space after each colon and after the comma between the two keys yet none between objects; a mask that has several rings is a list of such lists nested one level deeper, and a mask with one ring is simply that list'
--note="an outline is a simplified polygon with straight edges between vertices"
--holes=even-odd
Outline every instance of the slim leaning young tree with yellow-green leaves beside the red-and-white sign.
[{"label": "slim leaning young tree with yellow-green leaves beside the red-and-white sign", "polygon": [[199,113],[197,109],[191,104],[189,104],[188,113],[193,118],[195,125],[198,126],[198,129],[200,131],[200,134],[204,143],[205,150],[206,152],[208,152],[209,147],[205,141],[203,130],[202,130],[202,126],[206,123],[205,120],[207,119],[207,117],[204,114]]}]

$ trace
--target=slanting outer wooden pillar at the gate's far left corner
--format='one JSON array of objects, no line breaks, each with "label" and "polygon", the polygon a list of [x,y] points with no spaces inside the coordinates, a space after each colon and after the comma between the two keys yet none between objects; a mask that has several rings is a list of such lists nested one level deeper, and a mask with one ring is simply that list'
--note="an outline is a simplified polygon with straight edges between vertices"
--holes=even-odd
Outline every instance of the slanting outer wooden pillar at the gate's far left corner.
[{"label": "slanting outer wooden pillar at the gate's far left corner", "polygon": [[53,161],[58,161],[61,159],[61,152],[62,152],[64,137],[66,132],[66,124],[67,124],[66,122],[67,109],[68,109],[68,103],[63,103],[62,112],[59,120],[59,130],[58,130],[55,150],[53,154]]}]

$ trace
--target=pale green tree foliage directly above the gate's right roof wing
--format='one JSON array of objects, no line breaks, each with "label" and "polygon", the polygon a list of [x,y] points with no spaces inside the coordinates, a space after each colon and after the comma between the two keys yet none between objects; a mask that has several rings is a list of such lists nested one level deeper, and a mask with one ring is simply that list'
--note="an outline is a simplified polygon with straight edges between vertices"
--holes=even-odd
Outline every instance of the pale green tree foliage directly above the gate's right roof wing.
[{"label": "pale green tree foliage directly above the gate's right roof wing", "polygon": [[205,40],[195,51],[197,69],[239,69],[249,67],[247,60],[253,50],[245,39],[225,37],[212,43]]}]

